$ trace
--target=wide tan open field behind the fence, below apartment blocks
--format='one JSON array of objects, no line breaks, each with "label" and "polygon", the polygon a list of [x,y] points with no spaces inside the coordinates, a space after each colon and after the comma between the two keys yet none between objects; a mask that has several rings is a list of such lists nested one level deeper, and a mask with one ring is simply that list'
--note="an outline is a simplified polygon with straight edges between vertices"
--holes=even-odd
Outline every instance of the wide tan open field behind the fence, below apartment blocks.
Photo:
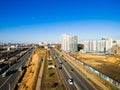
[{"label": "wide tan open field behind the fence, below apartment blocks", "polygon": [[120,56],[71,53],[73,57],[120,82]]}]

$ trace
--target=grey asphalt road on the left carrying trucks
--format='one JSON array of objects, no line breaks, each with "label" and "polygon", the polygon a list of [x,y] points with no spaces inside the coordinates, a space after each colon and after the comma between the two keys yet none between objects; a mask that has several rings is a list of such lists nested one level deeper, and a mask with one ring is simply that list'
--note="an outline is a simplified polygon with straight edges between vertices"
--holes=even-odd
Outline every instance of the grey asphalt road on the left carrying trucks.
[{"label": "grey asphalt road on the left carrying trucks", "polygon": [[24,66],[29,60],[30,55],[32,54],[33,49],[29,50],[23,57],[21,57],[17,63],[12,65],[6,72],[5,77],[0,75],[0,90],[11,90],[15,87],[17,79],[20,76],[21,72],[18,70],[20,67]]}]

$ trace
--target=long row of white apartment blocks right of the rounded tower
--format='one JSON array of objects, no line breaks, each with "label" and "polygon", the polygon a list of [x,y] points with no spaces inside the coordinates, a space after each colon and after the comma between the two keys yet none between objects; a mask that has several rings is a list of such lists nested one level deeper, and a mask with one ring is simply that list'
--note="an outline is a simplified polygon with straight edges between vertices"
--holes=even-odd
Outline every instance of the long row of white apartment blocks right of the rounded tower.
[{"label": "long row of white apartment blocks right of the rounded tower", "polygon": [[84,51],[90,53],[110,53],[113,47],[113,40],[111,38],[102,38],[100,40],[84,41]]}]

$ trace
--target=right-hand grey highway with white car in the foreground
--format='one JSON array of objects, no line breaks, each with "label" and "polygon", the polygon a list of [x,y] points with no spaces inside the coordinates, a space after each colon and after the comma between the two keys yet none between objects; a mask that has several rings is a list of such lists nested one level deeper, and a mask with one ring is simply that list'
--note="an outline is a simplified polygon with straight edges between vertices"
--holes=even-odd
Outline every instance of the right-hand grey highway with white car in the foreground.
[{"label": "right-hand grey highway with white car in the foreground", "polygon": [[[58,67],[61,80],[63,81],[67,90],[96,90],[88,80],[80,75],[63,57],[61,57],[53,48],[51,49],[55,62]],[[62,64],[61,64],[62,62]],[[59,69],[62,67],[62,69]],[[73,84],[68,82],[69,78],[73,79]]]}]

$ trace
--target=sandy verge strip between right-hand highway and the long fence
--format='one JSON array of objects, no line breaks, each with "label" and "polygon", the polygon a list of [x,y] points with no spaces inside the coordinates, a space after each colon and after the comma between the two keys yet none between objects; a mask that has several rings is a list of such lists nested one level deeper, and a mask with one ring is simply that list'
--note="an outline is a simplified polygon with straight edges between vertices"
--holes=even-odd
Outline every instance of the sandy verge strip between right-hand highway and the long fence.
[{"label": "sandy verge strip between right-hand highway and the long fence", "polygon": [[[62,52],[58,51],[56,49],[56,51],[61,55],[63,54]],[[64,55],[64,54],[63,54]],[[73,68],[79,73],[81,74],[89,83],[91,83],[91,85],[93,85],[93,87],[96,88],[96,90],[119,90],[117,89],[115,86],[111,85],[110,83],[108,83],[107,81],[103,80],[102,78],[100,78],[98,75],[96,75],[95,73],[91,72],[90,70],[88,70],[86,67],[84,67],[83,65],[79,64],[78,62],[76,62],[75,60],[70,59],[68,56],[64,55],[64,58],[66,58],[66,60],[68,61],[69,64],[71,64],[73,66]]]}]

